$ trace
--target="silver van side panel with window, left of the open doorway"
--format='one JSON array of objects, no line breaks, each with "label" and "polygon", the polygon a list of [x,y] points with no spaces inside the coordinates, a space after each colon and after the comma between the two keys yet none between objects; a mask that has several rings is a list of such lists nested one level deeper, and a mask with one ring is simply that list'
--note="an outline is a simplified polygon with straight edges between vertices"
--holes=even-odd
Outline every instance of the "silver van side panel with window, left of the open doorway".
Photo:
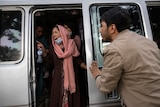
[{"label": "silver van side panel with window, left of the open doorway", "polygon": [[[0,106],[28,107],[28,49],[24,46],[24,10],[0,7]],[[25,54],[24,54],[25,53]]]}]

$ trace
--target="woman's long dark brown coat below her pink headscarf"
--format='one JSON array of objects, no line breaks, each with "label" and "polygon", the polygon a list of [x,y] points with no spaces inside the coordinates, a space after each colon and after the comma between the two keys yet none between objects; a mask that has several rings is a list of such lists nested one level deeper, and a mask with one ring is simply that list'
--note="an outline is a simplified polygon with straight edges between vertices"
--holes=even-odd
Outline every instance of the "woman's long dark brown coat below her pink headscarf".
[{"label": "woman's long dark brown coat below her pink headscarf", "polygon": [[[56,53],[51,49],[49,51],[49,63],[52,72],[50,107],[62,107],[63,91],[64,91],[64,71],[63,59],[57,57]],[[73,58],[73,66],[75,72],[76,93],[68,94],[69,106],[68,107],[81,107],[80,106],[80,90],[78,83],[78,65],[81,63],[79,57]]]}]

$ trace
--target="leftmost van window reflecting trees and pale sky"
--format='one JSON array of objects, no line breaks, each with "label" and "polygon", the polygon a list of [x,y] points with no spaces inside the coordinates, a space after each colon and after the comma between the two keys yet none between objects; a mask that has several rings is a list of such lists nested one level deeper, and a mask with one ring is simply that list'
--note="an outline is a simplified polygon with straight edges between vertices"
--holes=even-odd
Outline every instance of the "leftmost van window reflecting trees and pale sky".
[{"label": "leftmost van window reflecting trees and pale sky", "polygon": [[21,11],[0,12],[0,63],[21,57]]}]

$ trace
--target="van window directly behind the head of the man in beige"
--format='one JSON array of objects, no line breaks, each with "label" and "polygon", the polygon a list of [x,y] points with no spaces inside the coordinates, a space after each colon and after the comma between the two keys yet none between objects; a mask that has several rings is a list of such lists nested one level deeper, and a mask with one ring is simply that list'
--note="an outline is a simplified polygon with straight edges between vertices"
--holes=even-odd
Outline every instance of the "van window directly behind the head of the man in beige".
[{"label": "van window directly behind the head of the man in beige", "polygon": [[[102,41],[100,29],[100,17],[101,15],[115,7],[120,6],[122,8],[128,9],[131,16],[130,30],[137,32],[140,35],[145,35],[143,28],[143,21],[141,17],[140,8],[137,4],[94,4],[90,7],[91,14],[91,30],[92,30],[92,40],[93,40],[93,56],[99,64],[99,67],[103,67],[103,50],[110,44],[110,42]],[[112,100],[119,98],[117,90],[112,91],[110,94],[105,95],[106,100]]]}]

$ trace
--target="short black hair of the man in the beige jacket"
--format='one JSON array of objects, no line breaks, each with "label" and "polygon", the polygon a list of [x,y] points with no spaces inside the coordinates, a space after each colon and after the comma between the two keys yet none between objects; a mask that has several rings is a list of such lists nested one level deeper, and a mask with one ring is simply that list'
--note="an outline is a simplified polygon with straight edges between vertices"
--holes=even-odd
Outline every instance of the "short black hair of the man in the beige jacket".
[{"label": "short black hair of the man in the beige jacket", "polygon": [[102,17],[101,21],[105,21],[107,26],[115,24],[118,32],[125,29],[129,29],[131,19],[127,9],[121,7],[114,7],[106,11]]}]

